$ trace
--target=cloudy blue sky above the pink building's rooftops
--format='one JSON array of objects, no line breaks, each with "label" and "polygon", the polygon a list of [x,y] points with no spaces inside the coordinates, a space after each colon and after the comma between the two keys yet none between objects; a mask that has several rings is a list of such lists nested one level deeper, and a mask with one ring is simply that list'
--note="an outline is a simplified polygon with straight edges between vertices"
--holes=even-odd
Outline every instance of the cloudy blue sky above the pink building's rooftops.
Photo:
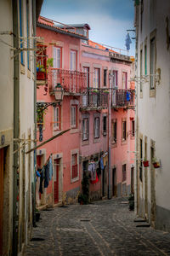
[{"label": "cloudy blue sky above the pink building's rooftops", "polygon": [[[133,29],[133,0],[44,0],[41,15],[65,24],[88,23],[89,39],[126,49],[127,29]],[[129,55],[134,55],[132,42]]]}]

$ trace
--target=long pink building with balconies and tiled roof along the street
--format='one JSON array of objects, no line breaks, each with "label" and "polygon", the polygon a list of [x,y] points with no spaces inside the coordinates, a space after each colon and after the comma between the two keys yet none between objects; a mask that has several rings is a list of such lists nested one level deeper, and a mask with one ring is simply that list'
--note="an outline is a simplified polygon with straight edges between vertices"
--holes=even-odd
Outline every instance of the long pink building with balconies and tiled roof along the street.
[{"label": "long pink building with balconies and tiled roof along the street", "polygon": [[[133,191],[134,111],[129,82],[132,61],[126,55],[88,41],[89,29],[87,24],[74,28],[56,26],[54,21],[42,17],[37,24],[46,62],[53,58],[53,67],[48,68],[45,79],[37,80],[37,106],[48,106],[42,124],[37,121],[37,138],[41,133],[40,140],[46,141],[70,129],[37,149],[37,167],[44,169],[49,158],[53,165],[48,188],[37,177],[37,207],[77,201],[83,173],[89,173],[92,161],[97,177],[89,186],[90,199],[107,196],[110,145],[111,195],[128,195]],[[60,102],[54,97],[57,84],[64,89]]]}]

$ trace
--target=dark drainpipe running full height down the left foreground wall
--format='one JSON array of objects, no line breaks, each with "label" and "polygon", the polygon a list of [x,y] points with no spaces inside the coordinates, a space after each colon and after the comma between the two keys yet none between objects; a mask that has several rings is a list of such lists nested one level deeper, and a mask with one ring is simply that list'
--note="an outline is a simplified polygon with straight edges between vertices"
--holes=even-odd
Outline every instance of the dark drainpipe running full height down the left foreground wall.
[{"label": "dark drainpipe running full height down the left foreground wall", "polygon": [[[13,32],[14,32],[14,48],[19,47],[19,34],[18,34],[18,4],[17,0],[13,1]],[[14,55],[17,54],[17,50],[14,50]],[[19,138],[20,136],[20,59],[19,55],[14,57],[14,138]],[[14,143],[14,151],[17,149],[17,144]],[[19,188],[17,185],[17,180],[19,181],[18,171],[19,171],[19,151],[14,154],[14,199],[13,199],[13,252],[14,256],[18,253],[18,232],[19,232],[19,201],[17,201],[17,196],[19,195]],[[17,210],[18,209],[18,210]]]}]

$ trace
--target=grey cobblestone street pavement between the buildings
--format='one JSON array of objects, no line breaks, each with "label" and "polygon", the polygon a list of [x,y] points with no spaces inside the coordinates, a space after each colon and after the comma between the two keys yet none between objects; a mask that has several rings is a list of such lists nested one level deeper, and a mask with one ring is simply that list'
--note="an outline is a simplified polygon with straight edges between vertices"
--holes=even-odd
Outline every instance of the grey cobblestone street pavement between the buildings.
[{"label": "grey cobblestone street pavement between the buildings", "polygon": [[[170,255],[170,233],[136,227],[127,198],[41,212],[25,256]],[[37,241],[39,239],[39,241]]]}]

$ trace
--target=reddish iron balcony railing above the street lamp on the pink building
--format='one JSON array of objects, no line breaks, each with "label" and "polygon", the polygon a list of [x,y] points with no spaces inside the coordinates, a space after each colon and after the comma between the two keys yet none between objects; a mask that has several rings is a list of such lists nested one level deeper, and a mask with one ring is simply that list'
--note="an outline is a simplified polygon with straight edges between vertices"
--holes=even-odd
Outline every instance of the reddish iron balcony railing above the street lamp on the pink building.
[{"label": "reddish iron balcony railing above the street lamp on the pink building", "polygon": [[49,91],[61,84],[65,93],[81,94],[87,87],[87,74],[62,68],[50,68],[48,72]]}]

